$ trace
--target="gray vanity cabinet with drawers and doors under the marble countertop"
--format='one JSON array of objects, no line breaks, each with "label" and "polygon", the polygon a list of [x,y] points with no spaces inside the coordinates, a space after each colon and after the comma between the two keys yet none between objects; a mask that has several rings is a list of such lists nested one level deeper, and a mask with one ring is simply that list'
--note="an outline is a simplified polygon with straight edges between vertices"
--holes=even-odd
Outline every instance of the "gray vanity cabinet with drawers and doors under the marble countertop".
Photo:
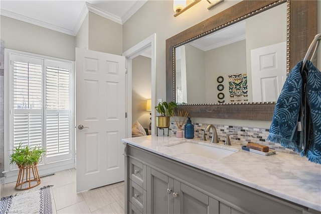
[{"label": "gray vanity cabinet with drawers and doors under the marble countertop", "polygon": [[128,144],[125,166],[125,213],[302,214],[311,211]]}]

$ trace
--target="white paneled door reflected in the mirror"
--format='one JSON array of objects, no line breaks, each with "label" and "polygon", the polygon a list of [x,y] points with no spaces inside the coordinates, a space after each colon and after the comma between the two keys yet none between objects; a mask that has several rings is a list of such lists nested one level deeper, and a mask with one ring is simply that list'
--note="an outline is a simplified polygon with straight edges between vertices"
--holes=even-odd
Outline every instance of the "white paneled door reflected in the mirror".
[{"label": "white paneled door reflected in the mirror", "polygon": [[251,50],[253,102],[276,101],[286,79],[286,43]]}]

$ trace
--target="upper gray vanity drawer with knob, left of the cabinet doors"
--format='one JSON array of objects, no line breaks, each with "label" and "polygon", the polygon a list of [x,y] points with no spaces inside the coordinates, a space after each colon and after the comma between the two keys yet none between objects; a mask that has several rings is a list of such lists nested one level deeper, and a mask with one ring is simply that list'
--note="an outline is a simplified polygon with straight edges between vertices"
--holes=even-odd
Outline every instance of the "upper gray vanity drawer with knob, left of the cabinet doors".
[{"label": "upper gray vanity drawer with knob, left of the cabinet doors", "polygon": [[[130,158],[129,160],[129,178],[137,183],[140,187],[144,187],[143,184],[146,182],[146,166],[143,165],[141,162]],[[146,188],[144,188],[146,189]]]}]

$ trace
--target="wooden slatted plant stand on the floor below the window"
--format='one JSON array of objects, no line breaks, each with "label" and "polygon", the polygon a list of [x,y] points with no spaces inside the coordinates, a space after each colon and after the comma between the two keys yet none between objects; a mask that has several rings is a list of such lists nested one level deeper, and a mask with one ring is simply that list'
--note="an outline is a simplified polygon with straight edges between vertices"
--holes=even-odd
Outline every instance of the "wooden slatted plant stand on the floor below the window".
[{"label": "wooden slatted plant stand on the floor below the window", "polygon": [[[41,183],[37,163],[32,166],[20,166],[16,183],[16,189],[25,190],[33,188]],[[32,173],[32,174],[31,174]]]}]

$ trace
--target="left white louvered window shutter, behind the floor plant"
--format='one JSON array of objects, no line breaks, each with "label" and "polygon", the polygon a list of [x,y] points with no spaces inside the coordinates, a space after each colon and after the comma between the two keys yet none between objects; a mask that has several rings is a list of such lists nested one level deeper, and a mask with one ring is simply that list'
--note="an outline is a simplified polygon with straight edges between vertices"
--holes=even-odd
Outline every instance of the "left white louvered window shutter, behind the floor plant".
[{"label": "left white louvered window shutter, behind the floor plant", "polygon": [[13,146],[42,147],[42,61],[16,56],[13,73]]}]

